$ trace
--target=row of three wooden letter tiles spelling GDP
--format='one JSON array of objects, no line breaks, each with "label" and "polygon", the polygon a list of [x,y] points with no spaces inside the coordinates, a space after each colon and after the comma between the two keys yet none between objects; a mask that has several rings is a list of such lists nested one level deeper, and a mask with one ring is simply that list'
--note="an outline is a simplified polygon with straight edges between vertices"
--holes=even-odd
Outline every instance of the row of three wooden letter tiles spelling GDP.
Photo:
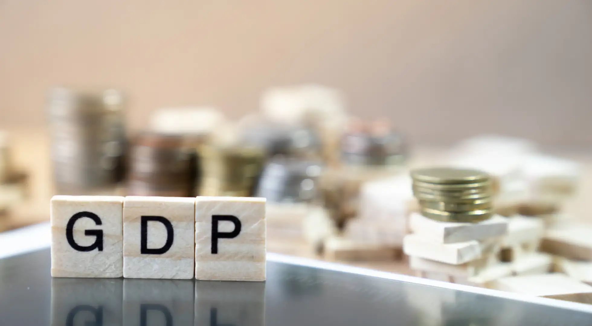
[{"label": "row of three wooden letter tiles spelling GDP", "polygon": [[265,198],[53,196],[52,276],[265,280]]}]

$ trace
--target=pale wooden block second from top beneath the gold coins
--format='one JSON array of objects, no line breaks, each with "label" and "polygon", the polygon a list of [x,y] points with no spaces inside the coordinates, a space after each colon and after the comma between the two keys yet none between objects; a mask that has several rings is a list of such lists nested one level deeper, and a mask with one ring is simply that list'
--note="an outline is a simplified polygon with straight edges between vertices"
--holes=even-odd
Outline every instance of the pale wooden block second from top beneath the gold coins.
[{"label": "pale wooden block second from top beneath the gold coins", "polygon": [[453,265],[480,259],[482,252],[490,246],[493,246],[493,243],[480,243],[475,240],[442,244],[417,234],[408,234],[403,239],[403,252],[407,256],[417,256]]}]

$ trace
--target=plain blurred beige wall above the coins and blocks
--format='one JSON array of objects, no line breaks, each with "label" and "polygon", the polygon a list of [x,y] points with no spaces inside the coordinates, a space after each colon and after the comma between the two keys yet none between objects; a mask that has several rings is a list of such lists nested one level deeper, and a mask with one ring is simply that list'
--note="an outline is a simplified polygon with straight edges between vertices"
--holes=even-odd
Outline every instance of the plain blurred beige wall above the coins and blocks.
[{"label": "plain blurred beige wall above the coins and blocks", "polygon": [[419,143],[480,131],[592,148],[592,2],[0,0],[0,127],[44,123],[52,85],[232,118],[318,82]]}]

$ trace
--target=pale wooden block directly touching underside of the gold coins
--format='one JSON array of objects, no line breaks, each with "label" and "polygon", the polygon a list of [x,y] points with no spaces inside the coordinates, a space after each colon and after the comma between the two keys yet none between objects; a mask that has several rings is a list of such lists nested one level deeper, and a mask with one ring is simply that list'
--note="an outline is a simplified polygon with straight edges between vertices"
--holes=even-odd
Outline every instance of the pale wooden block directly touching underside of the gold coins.
[{"label": "pale wooden block directly touching underside of the gold coins", "polygon": [[507,218],[494,215],[478,223],[439,222],[412,213],[409,226],[413,233],[437,243],[456,243],[470,240],[484,240],[506,234]]}]

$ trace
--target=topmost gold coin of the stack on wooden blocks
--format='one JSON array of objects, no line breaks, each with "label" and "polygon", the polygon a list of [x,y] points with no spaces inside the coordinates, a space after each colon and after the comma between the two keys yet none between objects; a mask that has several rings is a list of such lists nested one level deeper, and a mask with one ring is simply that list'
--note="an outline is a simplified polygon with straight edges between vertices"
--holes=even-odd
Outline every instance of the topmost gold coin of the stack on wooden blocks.
[{"label": "topmost gold coin of the stack on wooden blocks", "polygon": [[490,179],[490,175],[474,169],[430,167],[411,171],[411,178],[427,183],[475,183]]}]

